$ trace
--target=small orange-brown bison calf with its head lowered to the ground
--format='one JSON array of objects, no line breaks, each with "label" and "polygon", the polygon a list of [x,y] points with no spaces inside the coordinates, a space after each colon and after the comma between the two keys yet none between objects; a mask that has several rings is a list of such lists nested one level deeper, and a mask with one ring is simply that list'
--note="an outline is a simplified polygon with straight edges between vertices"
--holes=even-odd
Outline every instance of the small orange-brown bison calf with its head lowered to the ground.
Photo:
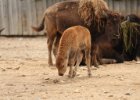
[{"label": "small orange-brown bison calf with its head lowered to the ground", "polygon": [[[73,26],[65,30],[60,39],[56,58],[56,67],[60,76],[64,75],[68,64],[70,65],[69,76],[72,78],[76,75],[77,66],[82,60],[82,50],[86,54],[88,75],[90,76],[91,36],[89,30],[82,26]],[[76,67],[73,71],[72,67],[75,62]]]}]

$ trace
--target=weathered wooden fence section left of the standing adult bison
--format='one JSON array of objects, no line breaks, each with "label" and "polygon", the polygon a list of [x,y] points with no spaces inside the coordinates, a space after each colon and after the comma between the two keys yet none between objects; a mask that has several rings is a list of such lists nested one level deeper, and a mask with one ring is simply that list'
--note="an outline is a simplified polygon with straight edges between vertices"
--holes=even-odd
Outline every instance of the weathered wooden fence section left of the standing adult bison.
[{"label": "weathered wooden fence section left of the standing adult bison", "polygon": [[37,25],[45,9],[62,0],[0,0],[1,35],[43,35],[35,33],[31,25]]}]

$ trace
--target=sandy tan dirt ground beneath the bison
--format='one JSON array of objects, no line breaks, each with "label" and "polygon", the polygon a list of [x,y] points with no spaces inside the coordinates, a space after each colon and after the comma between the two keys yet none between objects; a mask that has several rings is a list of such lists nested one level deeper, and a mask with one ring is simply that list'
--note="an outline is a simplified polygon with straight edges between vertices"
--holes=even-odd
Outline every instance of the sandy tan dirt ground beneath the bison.
[{"label": "sandy tan dirt ground beneath the bison", "polygon": [[[140,100],[140,64],[86,67],[69,79],[47,64],[46,38],[0,38],[0,100]],[[55,61],[55,59],[54,59]]]}]

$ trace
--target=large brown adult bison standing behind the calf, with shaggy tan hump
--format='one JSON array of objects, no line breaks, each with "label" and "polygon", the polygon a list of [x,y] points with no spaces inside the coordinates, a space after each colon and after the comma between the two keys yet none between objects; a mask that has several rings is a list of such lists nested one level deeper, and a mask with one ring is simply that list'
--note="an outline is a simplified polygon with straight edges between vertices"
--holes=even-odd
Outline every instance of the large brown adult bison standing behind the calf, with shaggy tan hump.
[{"label": "large brown adult bison standing behind the calf, with shaggy tan hump", "polygon": [[110,26],[112,34],[118,34],[120,16],[109,11],[104,0],[63,1],[49,7],[39,27],[32,28],[38,32],[45,29],[48,37],[48,64],[52,65],[52,46],[57,34],[62,34],[71,26],[85,26],[91,32],[93,44],[104,33],[108,21],[113,25]]}]

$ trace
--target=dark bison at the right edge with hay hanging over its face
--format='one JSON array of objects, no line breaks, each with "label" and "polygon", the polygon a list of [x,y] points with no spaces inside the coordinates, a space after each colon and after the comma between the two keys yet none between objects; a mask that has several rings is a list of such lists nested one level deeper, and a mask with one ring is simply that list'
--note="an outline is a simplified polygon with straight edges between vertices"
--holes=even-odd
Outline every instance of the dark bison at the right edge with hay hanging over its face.
[{"label": "dark bison at the right edge with hay hanging over its face", "polygon": [[121,31],[125,60],[140,59],[140,17],[127,15],[126,21],[121,23]]}]

